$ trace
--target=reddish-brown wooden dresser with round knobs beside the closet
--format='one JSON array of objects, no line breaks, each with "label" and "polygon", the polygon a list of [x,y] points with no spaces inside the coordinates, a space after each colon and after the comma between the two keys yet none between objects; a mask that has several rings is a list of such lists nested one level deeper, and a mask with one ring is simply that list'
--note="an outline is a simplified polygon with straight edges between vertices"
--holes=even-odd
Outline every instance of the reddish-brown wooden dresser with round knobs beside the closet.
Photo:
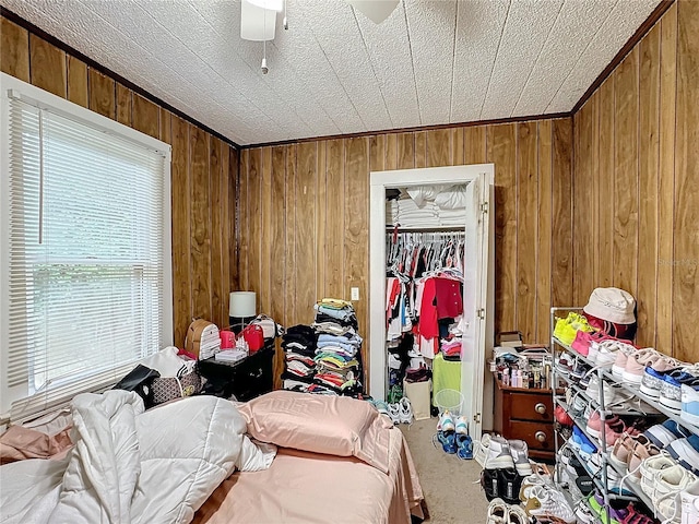
[{"label": "reddish-brown wooden dresser with round knobs beside the closet", "polygon": [[520,439],[529,456],[554,460],[554,407],[550,390],[509,388],[495,378],[494,430]]}]

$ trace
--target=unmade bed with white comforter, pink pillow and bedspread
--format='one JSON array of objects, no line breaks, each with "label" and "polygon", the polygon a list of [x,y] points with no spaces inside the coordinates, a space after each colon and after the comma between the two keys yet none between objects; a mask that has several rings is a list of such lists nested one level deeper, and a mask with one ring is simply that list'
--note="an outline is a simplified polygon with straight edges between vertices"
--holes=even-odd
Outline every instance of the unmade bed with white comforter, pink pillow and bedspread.
[{"label": "unmade bed with white comforter, pink pillow and bedspread", "polygon": [[144,412],[135,393],[106,392],[75,397],[72,417],[72,449],[0,467],[0,522],[423,516],[401,431],[364,401],[272,392],[242,405],[199,396]]}]

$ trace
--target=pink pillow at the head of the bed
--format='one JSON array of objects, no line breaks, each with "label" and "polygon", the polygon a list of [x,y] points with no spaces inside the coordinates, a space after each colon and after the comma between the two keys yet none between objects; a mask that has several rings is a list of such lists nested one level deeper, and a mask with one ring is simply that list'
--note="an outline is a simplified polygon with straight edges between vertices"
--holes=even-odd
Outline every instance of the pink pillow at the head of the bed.
[{"label": "pink pillow at the head of the bed", "polygon": [[389,473],[388,418],[366,401],[273,391],[238,407],[262,442],[313,453],[356,456]]}]

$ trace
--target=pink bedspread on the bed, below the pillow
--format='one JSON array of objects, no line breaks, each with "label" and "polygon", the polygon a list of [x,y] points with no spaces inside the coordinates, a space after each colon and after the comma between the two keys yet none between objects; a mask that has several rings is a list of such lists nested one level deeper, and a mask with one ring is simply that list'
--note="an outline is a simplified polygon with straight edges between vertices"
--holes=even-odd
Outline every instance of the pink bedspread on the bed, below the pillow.
[{"label": "pink bedspread on the bed, below the pillow", "polygon": [[423,490],[403,434],[390,431],[390,473],[355,457],[279,450],[263,472],[236,473],[194,515],[208,524],[410,524]]}]

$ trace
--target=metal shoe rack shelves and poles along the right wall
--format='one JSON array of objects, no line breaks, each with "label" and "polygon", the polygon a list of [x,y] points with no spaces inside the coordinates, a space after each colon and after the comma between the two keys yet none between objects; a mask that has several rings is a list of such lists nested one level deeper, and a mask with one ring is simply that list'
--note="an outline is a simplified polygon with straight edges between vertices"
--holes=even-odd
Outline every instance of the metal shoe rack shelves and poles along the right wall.
[{"label": "metal shoe rack shelves and poles along the right wall", "polygon": [[[556,338],[554,336],[556,318],[560,317],[561,314],[564,314],[565,317],[570,311],[580,312],[582,311],[582,308],[552,308],[550,310],[550,334],[552,334],[550,347],[552,347],[552,354],[554,358],[554,366],[552,369],[552,377],[553,377],[552,384],[561,386],[561,389],[552,388],[553,402],[554,402],[554,406],[560,406],[571,417],[571,419],[573,420],[578,429],[580,429],[580,431],[585,437],[588,437],[588,439],[590,439],[590,441],[597,448],[597,450],[600,450],[601,452],[600,453],[600,463],[601,463],[600,472],[595,473],[590,467],[590,461],[581,456],[580,453],[574,448],[568,446],[568,449],[570,449],[572,454],[582,464],[588,475],[593,479],[593,483],[596,486],[597,490],[602,493],[604,498],[604,505],[606,509],[606,522],[611,522],[611,515],[609,515],[611,500],[628,500],[628,501],[637,501],[637,502],[640,501],[651,512],[653,512],[653,516],[662,521],[662,516],[656,514],[655,508],[651,499],[640,488],[640,485],[637,486],[629,481],[625,481],[623,484],[624,490],[633,493],[632,496],[620,495],[621,490],[619,490],[619,493],[614,493],[614,492],[611,492],[609,490],[608,475],[612,474],[612,472],[614,472],[613,474],[615,474],[619,478],[624,478],[627,472],[618,467],[616,464],[614,464],[608,460],[609,453],[612,451],[612,445],[606,444],[606,434],[605,434],[606,425],[604,424],[604,415],[605,413],[608,414],[611,412],[608,412],[605,408],[604,384],[607,383],[607,384],[614,384],[615,386],[619,386],[623,390],[625,390],[627,393],[632,395],[633,398],[642,401],[642,403],[644,403],[645,406],[649,406],[648,410],[639,410],[638,413],[626,410],[625,412],[626,414],[630,414],[630,415],[638,414],[639,416],[642,416],[651,413],[654,416],[666,417],[677,421],[680,426],[692,431],[695,434],[699,434],[699,427],[688,424],[686,420],[682,419],[679,415],[672,413],[671,410],[665,408],[662,404],[660,404],[657,401],[641,393],[637,388],[633,388],[630,384],[619,381],[618,379],[612,376],[612,372],[609,369],[597,368],[595,362],[591,361],[587,357],[582,356],[581,354],[572,349],[569,345]],[[600,380],[600,388],[599,388],[600,394],[597,398],[591,398],[584,390],[582,390],[576,382],[570,380],[569,376],[560,373],[560,370],[558,369],[556,364],[558,362],[558,358],[560,357],[560,355],[565,353],[567,353],[569,356],[573,357],[574,359],[582,361],[583,364],[588,365],[590,368],[594,370],[593,372],[596,373],[597,379]],[[574,410],[571,409],[572,406],[568,405],[568,402],[566,400],[567,396],[565,393],[560,394],[561,391],[564,392],[572,391],[574,395],[582,397],[585,403],[592,406],[594,410],[597,410],[600,413],[601,419],[602,419],[600,438],[595,438],[589,433],[587,429],[585,417],[581,414],[576,414]],[[564,492],[564,495],[568,498],[568,502],[571,503],[571,507],[574,508],[578,501],[580,500],[587,505],[589,505],[588,498],[582,496],[582,493],[578,490],[577,486],[574,485],[574,481],[570,483],[571,486],[568,489],[561,486],[561,471],[566,466],[560,461],[559,450],[561,448],[561,441],[564,437],[560,433],[560,425],[557,421],[554,422],[554,427],[555,427],[554,446],[555,446],[555,453],[556,453],[556,467],[554,469],[554,481],[559,487],[559,489]],[[569,437],[569,438],[572,439],[572,437]]]}]

